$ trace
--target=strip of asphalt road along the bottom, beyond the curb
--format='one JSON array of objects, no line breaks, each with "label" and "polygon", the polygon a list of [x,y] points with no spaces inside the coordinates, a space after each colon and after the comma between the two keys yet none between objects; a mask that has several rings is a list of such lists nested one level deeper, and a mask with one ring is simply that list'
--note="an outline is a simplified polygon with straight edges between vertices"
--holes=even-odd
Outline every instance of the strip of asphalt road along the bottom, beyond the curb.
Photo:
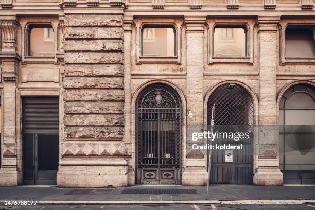
[{"label": "strip of asphalt road along the bottom, beyond the curb", "polygon": [[59,209],[91,209],[91,210],[315,210],[315,205],[81,205],[81,206],[0,206],[0,210],[31,210],[31,209],[44,209],[44,210],[59,210]]}]

